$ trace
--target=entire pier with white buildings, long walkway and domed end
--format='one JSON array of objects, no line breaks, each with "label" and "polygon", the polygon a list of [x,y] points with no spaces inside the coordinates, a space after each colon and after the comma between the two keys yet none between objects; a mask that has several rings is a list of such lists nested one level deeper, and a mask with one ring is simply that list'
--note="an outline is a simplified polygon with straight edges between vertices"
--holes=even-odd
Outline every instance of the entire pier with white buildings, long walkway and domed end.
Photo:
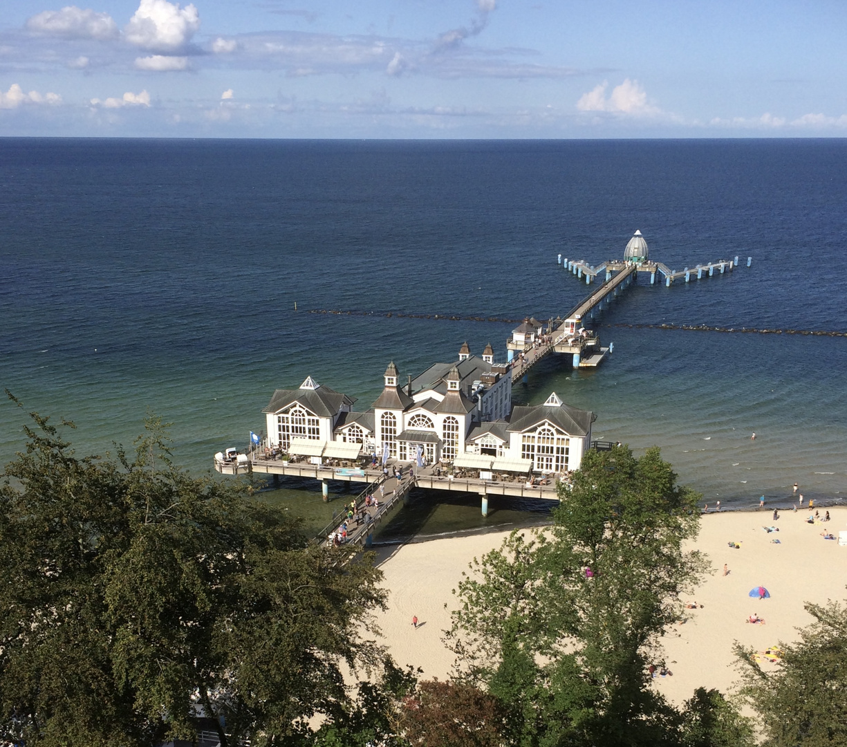
[{"label": "entire pier with white buildings, long walkway and domed end", "polygon": [[[579,469],[585,451],[610,446],[591,440],[594,412],[568,405],[555,391],[543,404],[518,405],[512,386],[526,383],[529,370],[550,354],[571,356],[573,368],[599,365],[613,345],[601,347],[590,324],[639,274],[651,285],[658,276],[670,286],[676,279],[689,282],[732,271],[738,259],[676,272],[650,260],[640,231],[622,260],[594,266],[562,261],[559,255],[562,267],[587,285],[602,275],[601,285],[564,318],[546,324],[525,318],[507,340],[507,362],[495,362],[490,344],[477,357],[466,342],[456,362],[433,363],[401,384],[392,361],[382,393],[362,411],[354,409],[355,398],[307,376],[297,389],[274,390],[262,411],[266,430],[251,431],[246,453],[219,451],[214,468],[222,474],[271,475],[274,482],[280,476],[315,479],[324,501],[329,501],[330,481],[364,484],[344,516],[319,538],[334,541],[352,514],[343,527],[345,544],[368,544],[374,528],[412,488],[479,495],[484,516],[490,495],[558,501],[557,484]],[[751,261],[748,257],[748,267]],[[377,505],[368,501],[374,490],[379,490]]]}]

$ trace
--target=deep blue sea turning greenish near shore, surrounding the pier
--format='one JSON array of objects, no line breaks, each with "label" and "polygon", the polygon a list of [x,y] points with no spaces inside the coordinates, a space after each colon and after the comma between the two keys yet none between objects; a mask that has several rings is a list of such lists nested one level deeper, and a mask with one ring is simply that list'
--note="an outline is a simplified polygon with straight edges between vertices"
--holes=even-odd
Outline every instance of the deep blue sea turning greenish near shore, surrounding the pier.
[{"label": "deep blue sea turning greenish near shore, surrounding the pier", "polygon": [[[0,463],[30,411],[73,421],[80,456],[131,449],[152,413],[173,423],[176,461],[210,473],[263,429],[275,388],[311,375],[367,409],[390,361],[405,381],[466,340],[505,360],[520,320],[595,289],[559,255],[623,257],[640,230],[672,269],[740,266],[642,276],[595,322],[606,362],[548,357],[513,398],[556,391],[596,413],[595,439],[660,446],[710,506],[790,507],[794,482],[837,504],[845,205],[842,139],[0,139],[0,385],[23,404],[0,402]],[[314,482],[258,487],[307,527],[342,502]],[[490,508],[419,490],[382,539],[548,517]]]}]

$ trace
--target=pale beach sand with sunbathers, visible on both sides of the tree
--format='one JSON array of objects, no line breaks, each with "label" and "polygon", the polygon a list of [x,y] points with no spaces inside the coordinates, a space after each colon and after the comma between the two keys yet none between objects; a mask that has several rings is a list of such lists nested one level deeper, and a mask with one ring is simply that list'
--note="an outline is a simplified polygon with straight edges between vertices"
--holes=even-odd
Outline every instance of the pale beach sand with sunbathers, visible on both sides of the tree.
[{"label": "pale beach sand with sunbathers, visible on both sides of the tree", "polygon": [[[823,516],[825,510],[819,510]],[[712,573],[683,598],[702,608],[686,610],[687,621],[672,626],[662,639],[673,674],[657,677],[655,686],[669,700],[680,704],[701,685],[729,692],[738,680],[734,641],[765,650],[779,640],[795,640],[795,628],[812,622],[803,609],[805,601],[822,604],[847,598],[847,546],[820,535],[827,529],[837,538],[839,530],[847,530],[847,507],[828,510],[832,520],[813,525],[805,522],[808,510],[780,512],[776,522],[772,510],[710,513],[702,518],[694,546],[709,557]],[[779,531],[768,534],[764,526]],[[450,627],[449,610],[456,604],[451,589],[474,556],[499,547],[505,536],[477,534],[380,548],[379,567],[390,591],[389,608],[379,616],[379,626],[399,664],[421,667],[424,678],[450,675],[453,656],[441,638]],[[738,542],[740,549],[730,548],[729,542]],[[722,574],[724,563],[727,576]],[[748,596],[760,585],[771,593],[770,599]],[[754,612],[766,624],[745,622]],[[413,616],[418,617],[418,628],[412,626]]]}]

